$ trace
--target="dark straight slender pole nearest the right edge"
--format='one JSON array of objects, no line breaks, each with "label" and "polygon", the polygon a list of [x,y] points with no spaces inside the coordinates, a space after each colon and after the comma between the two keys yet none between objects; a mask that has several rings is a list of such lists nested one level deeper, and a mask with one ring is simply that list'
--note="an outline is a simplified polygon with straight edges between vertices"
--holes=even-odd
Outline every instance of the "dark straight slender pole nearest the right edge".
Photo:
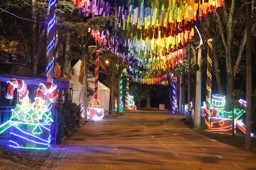
[{"label": "dark straight slender pole nearest the right edge", "polygon": [[246,4],[246,135],[245,149],[251,150],[251,117],[252,117],[252,21],[251,0]]}]

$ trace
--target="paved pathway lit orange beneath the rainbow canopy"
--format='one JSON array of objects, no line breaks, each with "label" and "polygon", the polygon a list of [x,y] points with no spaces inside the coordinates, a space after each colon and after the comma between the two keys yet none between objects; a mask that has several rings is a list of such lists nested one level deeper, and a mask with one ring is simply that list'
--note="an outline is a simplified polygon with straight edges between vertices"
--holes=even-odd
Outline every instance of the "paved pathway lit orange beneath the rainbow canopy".
[{"label": "paved pathway lit orange beneath the rainbow canopy", "polygon": [[[66,144],[58,166],[51,168],[256,170],[254,154],[195,133],[182,124],[182,117],[162,113],[126,114],[83,125],[70,144]],[[50,161],[57,160],[53,156]]]}]

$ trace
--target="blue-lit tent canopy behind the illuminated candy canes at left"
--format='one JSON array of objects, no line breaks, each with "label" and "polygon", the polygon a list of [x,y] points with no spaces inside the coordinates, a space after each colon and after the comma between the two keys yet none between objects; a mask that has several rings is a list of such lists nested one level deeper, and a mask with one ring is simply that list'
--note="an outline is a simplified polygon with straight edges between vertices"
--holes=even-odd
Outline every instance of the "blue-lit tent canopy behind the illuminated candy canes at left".
[{"label": "blue-lit tent canopy behind the illuminated candy canes at left", "polygon": [[[17,76],[17,75],[0,75],[0,81],[7,82],[12,78],[18,78],[24,80],[24,82],[29,87],[38,87],[40,83],[47,81],[47,77],[43,75],[26,75],[26,76]],[[57,85],[58,89],[68,89],[69,81],[68,78],[53,78],[53,83]]]}]

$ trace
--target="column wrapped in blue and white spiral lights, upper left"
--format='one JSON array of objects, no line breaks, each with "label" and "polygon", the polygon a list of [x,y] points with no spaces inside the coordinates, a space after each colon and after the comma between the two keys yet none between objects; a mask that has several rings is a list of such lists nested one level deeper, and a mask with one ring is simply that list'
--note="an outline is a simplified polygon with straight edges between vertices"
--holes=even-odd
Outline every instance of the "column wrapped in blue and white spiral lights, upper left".
[{"label": "column wrapped in blue and white spiral lights, upper left", "polygon": [[47,81],[53,81],[53,66],[54,66],[54,46],[55,46],[55,36],[54,36],[54,25],[56,23],[56,14],[55,14],[55,3],[56,0],[50,0],[48,6],[48,26],[47,26],[47,67],[46,67],[46,76]]}]

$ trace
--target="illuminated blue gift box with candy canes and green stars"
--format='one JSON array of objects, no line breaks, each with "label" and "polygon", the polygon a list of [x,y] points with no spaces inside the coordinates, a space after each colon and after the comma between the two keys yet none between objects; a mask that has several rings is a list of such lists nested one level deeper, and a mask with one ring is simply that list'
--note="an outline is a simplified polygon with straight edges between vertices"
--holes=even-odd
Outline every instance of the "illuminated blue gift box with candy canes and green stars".
[{"label": "illuminated blue gift box with candy canes and green stars", "polygon": [[[6,98],[13,98],[14,89],[18,89],[21,104],[12,109],[9,121],[0,126],[0,133],[11,127],[10,147],[25,149],[47,149],[50,143],[50,125],[53,122],[50,109],[58,97],[57,86],[52,82],[41,83],[37,89],[35,102],[29,100],[24,81],[13,78],[7,82]],[[49,93],[50,104],[45,101]]]}]

